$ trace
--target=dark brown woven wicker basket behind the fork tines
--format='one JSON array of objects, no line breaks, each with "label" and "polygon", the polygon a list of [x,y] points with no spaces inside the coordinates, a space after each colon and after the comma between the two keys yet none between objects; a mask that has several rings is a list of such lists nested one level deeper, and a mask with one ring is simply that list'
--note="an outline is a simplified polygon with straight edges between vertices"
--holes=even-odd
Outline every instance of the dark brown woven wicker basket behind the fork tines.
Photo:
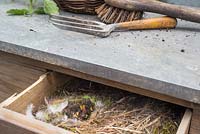
[{"label": "dark brown woven wicker basket behind the fork tines", "polygon": [[103,0],[54,0],[61,10],[74,13],[96,14],[95,9]]}]

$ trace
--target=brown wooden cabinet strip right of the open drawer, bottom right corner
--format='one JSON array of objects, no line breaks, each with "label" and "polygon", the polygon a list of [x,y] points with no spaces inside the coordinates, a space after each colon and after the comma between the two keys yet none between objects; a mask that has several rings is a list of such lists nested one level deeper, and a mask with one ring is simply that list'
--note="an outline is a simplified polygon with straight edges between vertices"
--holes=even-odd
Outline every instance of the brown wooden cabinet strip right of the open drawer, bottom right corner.
[{"label": "brown wooden cabinet strip right of the open drawer, bottom right corner", "polygon": [[200,107],[193,109],[189,134],[200,134]]}]

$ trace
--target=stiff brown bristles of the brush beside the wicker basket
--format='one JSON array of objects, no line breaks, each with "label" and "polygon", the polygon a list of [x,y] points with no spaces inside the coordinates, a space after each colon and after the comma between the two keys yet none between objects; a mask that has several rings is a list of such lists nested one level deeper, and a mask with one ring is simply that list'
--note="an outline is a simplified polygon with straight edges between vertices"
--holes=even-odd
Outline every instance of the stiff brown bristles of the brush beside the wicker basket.
[{"label": "stiff brown bristles of the brush beside the wicker basket", "polygon": [[127,11],[112,7],[104,3],[96,10],[98,18],[104,23],[120,23],[138,20],[142,18],[143,12],[140,11]]}]

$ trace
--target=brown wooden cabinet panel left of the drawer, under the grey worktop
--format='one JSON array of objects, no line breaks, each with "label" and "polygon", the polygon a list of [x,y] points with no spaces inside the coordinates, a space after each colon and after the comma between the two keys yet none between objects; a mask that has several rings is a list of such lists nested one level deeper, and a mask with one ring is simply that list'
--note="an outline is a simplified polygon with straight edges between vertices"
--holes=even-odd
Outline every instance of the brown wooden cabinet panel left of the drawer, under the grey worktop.
[{"label": "brown wooden cabinet panel left of the drawer, under the grey worktop", "polygon": [[0,53],[0,102],[16,92],[22,92],[46,70],[25,65]]}]

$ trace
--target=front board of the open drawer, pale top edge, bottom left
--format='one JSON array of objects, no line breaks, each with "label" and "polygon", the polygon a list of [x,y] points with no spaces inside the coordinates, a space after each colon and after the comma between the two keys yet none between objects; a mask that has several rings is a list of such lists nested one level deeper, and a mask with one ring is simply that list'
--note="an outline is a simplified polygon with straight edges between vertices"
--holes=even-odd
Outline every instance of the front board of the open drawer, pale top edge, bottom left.
[{"label": "front board of the open drawer, pale top edge, bottom left", "polygon": [[72,132],[25,115],[0,108],[1,134],[72,134]]}]

